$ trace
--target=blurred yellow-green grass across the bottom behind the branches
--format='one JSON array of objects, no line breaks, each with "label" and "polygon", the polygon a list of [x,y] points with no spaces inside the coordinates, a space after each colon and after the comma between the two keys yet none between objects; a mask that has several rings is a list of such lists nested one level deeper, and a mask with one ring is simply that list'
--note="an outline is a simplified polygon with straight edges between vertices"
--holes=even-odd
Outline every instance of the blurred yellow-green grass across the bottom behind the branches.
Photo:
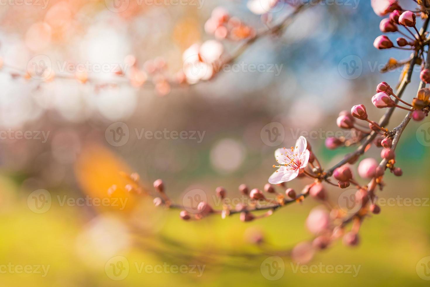
[{"label": "blurred yellow-green grass across the bottom behind the branches", "polygon": [[[396,181],[396,180],[395,180]],[[405,179],[399,181],[402,185]],[[10,186],[9,186],[10,187]],[[383,191],[384,193],[386,191]],[[428,191],[412,189],[410,197],[428,197]],[[238,216],[227,219],[208,218],[184,222],[178,211],[154,210],[165,219],[155,233],[137,233],[135,242],[116,255],[130,262],[129,275],[113,281],[104,272],[107,260],[83,259],[77,254],[77,236],[85,226],[82,208],[53,204],[44,214],[35,214],[26,206],[26,198],[9,202],[11,209],[3,213],[0,222],[0,256],[2,264],[50,265],[48,275],[0,274],[2,286],[297,286],[315,284],[329,286],[428,286],[418,277],[417,262],[430,255],[429,207],[382,207],[380,215],[366,219],[360,230],[362,242],[357,248],[341,243],[316,253],[307,265],[361,265],[353,274],[294,273],[290,259],[284,257],[285,274],[277,281],[268,281],[260,265],[270,254],[260,254],[257,247],[244,241],[246,228],[258,226],[270,243],[270,248],[286,249],[310,238],[304,219],[316,203],[312,200],[276,211],[272,216],[251,223],[242,223]],[[152,211],[151,211],[152,212]],[[149,216],[142,220],[157,219]],[[159,214],[160,215],[160,214]],[[151,219],[152,218],[152,219]],[[249,256],[240,256],[241,254]],[[235,254],[231,256],[229,254]],[[138,273],[134,262],[169,265],[204,264],[203,276],[197,274]],[[293,263],[294,264],[294,263]],[[294,265],[295,266],[295,265]],[[64,283],[64,284],[63,284]]]}]

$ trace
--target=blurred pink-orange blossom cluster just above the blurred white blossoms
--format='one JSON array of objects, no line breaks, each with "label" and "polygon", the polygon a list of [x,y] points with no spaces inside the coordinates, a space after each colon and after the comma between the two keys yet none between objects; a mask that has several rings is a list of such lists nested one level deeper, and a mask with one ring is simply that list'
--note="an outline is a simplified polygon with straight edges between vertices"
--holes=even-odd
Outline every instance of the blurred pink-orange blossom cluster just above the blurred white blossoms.
[{"label": "blurred pink-orange blossom cluster just above the blurred white blossoms", "polygon": [[216,39],[243,40],[255,37],[255,29],[245,25],[240,19],[230,17],[227,10],[216,7],[212,10],[211,18],[205,23],[207,34],[214,35]]}]

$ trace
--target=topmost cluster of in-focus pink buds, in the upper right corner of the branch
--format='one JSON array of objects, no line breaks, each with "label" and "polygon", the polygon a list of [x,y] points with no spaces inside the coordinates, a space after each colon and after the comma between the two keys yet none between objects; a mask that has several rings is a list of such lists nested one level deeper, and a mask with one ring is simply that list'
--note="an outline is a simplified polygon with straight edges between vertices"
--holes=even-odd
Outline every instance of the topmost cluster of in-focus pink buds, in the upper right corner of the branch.
[{"label": "topmost cluster of in-focus pink buds, in the upper right corner of the branch", "polygon": [[[390,9],[393,9],[394,7],[399,9],[393,10],[390,13],[389,18],[382,19],[381,23],[379,24],[379,29],[383,33],[399,32],[403,37],[397,38],[396,43],[398,46],[394,46],[393,42],[386,35],[378,36],[373,42],[373,46],[375,46],[377,49],[389,49],[393,47],[398,49],[414,49],[415,46],[422,43],[423,39],[421,39],[420,33],[415,26],[416,15],[411,11],[401,12],[401,8],[397,6],[397,4],[390,6]],[[403,26],[410,35],[400,31],[399,25]],[[414,28],[417,34],[414,34],[414,32],[412,32],[409,28]],[[405,46],[411,47],[404,48]]]}]

